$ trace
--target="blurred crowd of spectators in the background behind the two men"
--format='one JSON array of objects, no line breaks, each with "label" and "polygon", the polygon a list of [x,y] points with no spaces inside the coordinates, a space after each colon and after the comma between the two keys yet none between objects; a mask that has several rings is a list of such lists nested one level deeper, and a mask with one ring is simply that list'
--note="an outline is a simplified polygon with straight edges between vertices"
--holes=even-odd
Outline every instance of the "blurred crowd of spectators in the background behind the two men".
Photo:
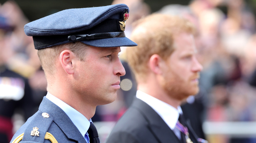
[{"label": "blurred crowd of spectators in the background behind the two men", "polygon": [[[132,31],[133,22],[152,13],[143,0],[114,0],[112,4],[117,3],[124,3],[130,8],[125,29],[127,37]],[[203,65],[200,93],[189,97],[184,106],[193,106],[198,112],[193,115],[202,122],[256,121],[256,21],[245,0],[191,0],[186,6],[170,4],[157,12],[185,17],[198,30],[195,42],[198,59]],[[47,92],[46,79],[32,37],[24,33],[23,27],[28,22],[14,1],[0,5],[0,79],[3,67],[27,79],[30,95],[26,104],[32,105],[29,109],[22,108],[24,106],[12,109],[12,123],[20,121],[17,115],[23,117],[22,120],[29,117],[25,114],[32,115]],[[93,117],[95,122],[117,121],[136,94],[136,82],[125,61],[125,47],[122,47],[120,59],[126,75],[121,77],[117,100],[98,106]],[[0,80],[0,89],[3,84]],[[10,99],[5,99],[0,93],[0,100],[8,102]],[[9,110],[3,104],[0,104],[0,108]],[[0,119],[1,116],[0,112]],[[15,131],[15,128],[12,130]],[[213,136],[211,140],[218,143],[256,142],[255,138],[228,136]]]}]

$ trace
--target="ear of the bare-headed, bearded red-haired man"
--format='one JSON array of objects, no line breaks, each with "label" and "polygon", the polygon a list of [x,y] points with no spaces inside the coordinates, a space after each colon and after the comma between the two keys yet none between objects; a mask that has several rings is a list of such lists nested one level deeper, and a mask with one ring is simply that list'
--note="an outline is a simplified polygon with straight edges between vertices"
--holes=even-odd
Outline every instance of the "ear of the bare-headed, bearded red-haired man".
[{"label": "ear of the bare-headed, bearded red-haired man", "polygon": [[158,54],[154,54],[149,59],[149,67],[155,74],[161,74],[161,62],[162,58]]}]

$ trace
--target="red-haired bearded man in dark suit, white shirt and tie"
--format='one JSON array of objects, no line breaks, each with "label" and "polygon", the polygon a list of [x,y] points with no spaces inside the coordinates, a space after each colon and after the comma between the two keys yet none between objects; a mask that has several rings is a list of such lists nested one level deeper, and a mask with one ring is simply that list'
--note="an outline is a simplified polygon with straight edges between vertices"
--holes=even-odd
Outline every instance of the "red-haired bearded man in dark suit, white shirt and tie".
[{"label": "red-haired bearded man in dark suit, white shirt and tie", "polygon": [[183,100],[199,91],[193,25],[177,16],[152,14],[135,24],[127,61],[137,81],[132,105],[106,143],[199,143],[182,115]]}]

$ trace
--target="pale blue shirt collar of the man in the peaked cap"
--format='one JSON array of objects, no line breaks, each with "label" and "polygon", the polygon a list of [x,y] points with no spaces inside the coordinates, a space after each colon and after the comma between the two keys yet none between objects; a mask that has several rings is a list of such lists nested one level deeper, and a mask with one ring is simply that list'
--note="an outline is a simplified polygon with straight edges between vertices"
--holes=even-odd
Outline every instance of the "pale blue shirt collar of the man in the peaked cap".
[{"label": "pale blue shirt collar of the man in the peaked cap", "polygon": [[68,105],[67,103],[63,102],[62,100],[58,99],[57,97],[53,96],[51,93],[47,92],[46,98],[49,99],[51,102],[59,106],[71,119],[71,121],[75,124],[79,132],[85,136],[87,130],[90,127],[90,122],[92,120],[88,120],[84,115],[80,112],[75,110],[73,107]]}]

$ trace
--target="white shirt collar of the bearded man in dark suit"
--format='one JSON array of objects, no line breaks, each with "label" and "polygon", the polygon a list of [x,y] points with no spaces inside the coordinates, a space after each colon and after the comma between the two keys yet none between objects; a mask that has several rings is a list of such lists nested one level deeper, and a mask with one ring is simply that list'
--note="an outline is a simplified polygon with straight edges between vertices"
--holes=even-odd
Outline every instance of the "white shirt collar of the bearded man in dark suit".
[{"label": "white shirt collar of the bearded man in dark suit", "polygon": [[179,114],[182,113],[180,106],[177,110],[173,106],[140,90],[137,90],[136,97],[152,107],[172,130],[175,128]]}]

